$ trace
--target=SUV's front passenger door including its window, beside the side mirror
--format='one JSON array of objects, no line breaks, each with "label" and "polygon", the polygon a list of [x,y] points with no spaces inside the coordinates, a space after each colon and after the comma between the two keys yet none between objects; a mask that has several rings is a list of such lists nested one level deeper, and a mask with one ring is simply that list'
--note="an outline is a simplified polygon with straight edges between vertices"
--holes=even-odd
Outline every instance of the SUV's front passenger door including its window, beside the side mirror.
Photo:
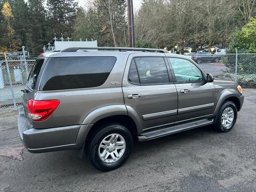
[{"label": "SUV's front passenger door including its window, beside the side mirror", "polygon": [[217,104],[214,84],[206,83],[203,72],[189,60],[168,59],[175,76],[174,83],[178,92],[176,122],[193,121],[211,116]]}]

